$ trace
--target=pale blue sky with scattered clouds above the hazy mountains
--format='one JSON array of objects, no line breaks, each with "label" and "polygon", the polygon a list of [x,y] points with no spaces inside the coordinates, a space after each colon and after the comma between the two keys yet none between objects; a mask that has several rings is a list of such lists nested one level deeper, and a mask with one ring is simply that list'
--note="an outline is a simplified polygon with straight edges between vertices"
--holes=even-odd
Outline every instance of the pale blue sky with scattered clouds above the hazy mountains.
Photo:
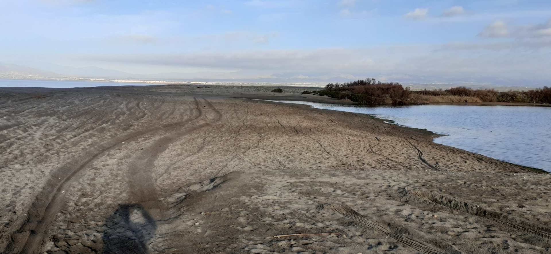
[{"label": "pale blue sky with scattered clouds above the hazy mountains", "polygon": [[0,24],[31,67],[551,84],[549,0],[0,0]]}]

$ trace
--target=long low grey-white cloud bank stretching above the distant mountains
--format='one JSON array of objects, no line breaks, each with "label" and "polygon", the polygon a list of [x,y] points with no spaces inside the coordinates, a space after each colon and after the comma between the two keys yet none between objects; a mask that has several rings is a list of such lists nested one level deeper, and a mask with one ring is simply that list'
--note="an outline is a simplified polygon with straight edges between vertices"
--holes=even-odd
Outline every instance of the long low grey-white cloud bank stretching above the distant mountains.
[{"label": "long low grey-white cloud bank stretching above the distant mountains", "polygon": [[[485,50],[484,57],[480,54],[460,52],[471,47]],[[492,45],[394,46],[179,54],[96,54],[81,58],[101,63],[234,68],[263,71],[263,73],[294,72],[309,76],[315,76],[316,73],[349,73],[463,78],[465,76],[495,78],[526,76],[551,79],[549,71],[542,71],[551,64],[551,59],[545,58],[544,54],[527,54],[525,50],[515,50],[516,46],[503,51],[494,51],[492,47]],[[549,47],[537,50],[547,52],[548,49]],[[450,57],[451,53],[456,54]]]}]

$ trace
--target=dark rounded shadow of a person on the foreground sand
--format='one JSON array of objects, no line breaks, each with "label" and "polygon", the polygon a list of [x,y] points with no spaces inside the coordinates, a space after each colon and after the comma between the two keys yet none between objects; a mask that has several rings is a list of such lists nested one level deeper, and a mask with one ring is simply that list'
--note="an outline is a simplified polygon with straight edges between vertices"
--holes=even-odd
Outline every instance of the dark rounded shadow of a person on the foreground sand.
[{"label": "dark rounded shadow of a person on the foreground sand", "polygon": [[107,218],[101,239],[103,253],[148,253],[147,241],[155,233],[155,220],[141,205],[120,205]]}]

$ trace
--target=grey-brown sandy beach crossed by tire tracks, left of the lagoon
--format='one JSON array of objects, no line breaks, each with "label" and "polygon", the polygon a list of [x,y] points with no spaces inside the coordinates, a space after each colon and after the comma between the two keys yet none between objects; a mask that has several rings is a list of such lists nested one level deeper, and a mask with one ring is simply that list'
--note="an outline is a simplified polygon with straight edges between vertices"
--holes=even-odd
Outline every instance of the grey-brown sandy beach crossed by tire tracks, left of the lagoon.
[{"label": "grey-brown sandy beach crossed by tire tracks, left of the lagoon", "polygon": [[273,88],[0,88],[0,252],[551,252],[549,174]]}]

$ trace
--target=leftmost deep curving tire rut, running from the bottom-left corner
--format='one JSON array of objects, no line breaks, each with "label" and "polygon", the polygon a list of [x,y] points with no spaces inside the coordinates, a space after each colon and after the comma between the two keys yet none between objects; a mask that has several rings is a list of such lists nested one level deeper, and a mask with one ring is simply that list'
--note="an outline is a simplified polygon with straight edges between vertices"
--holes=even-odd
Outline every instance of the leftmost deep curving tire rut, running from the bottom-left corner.
[{"label": "leftmost deep curving tire rut, running from the bottom-left corner", "polygon": [[[197,99],[194,99],[196,107],[199,108]],[[31,204],[27,212],[27,217],[19,229],[15,230],[10,236],[10,241],[6,247],[6,253],[35,253],[40,251],[39,249],[44,242],[44,237],[47,234],[51,221],[63,205],[63,190],[73,182],[74,176],[77,175],[80,170],[86,168],[95,158],[121,142],[149,134],[150,132],[186,124],[193,119],[195,119],[195,116],[179,122],[122,135],[91,148],[84,153],[84,156],[73,159],[71,162],[55,170],[50,179],[46,181],[45,187],[39,192]]]}]

